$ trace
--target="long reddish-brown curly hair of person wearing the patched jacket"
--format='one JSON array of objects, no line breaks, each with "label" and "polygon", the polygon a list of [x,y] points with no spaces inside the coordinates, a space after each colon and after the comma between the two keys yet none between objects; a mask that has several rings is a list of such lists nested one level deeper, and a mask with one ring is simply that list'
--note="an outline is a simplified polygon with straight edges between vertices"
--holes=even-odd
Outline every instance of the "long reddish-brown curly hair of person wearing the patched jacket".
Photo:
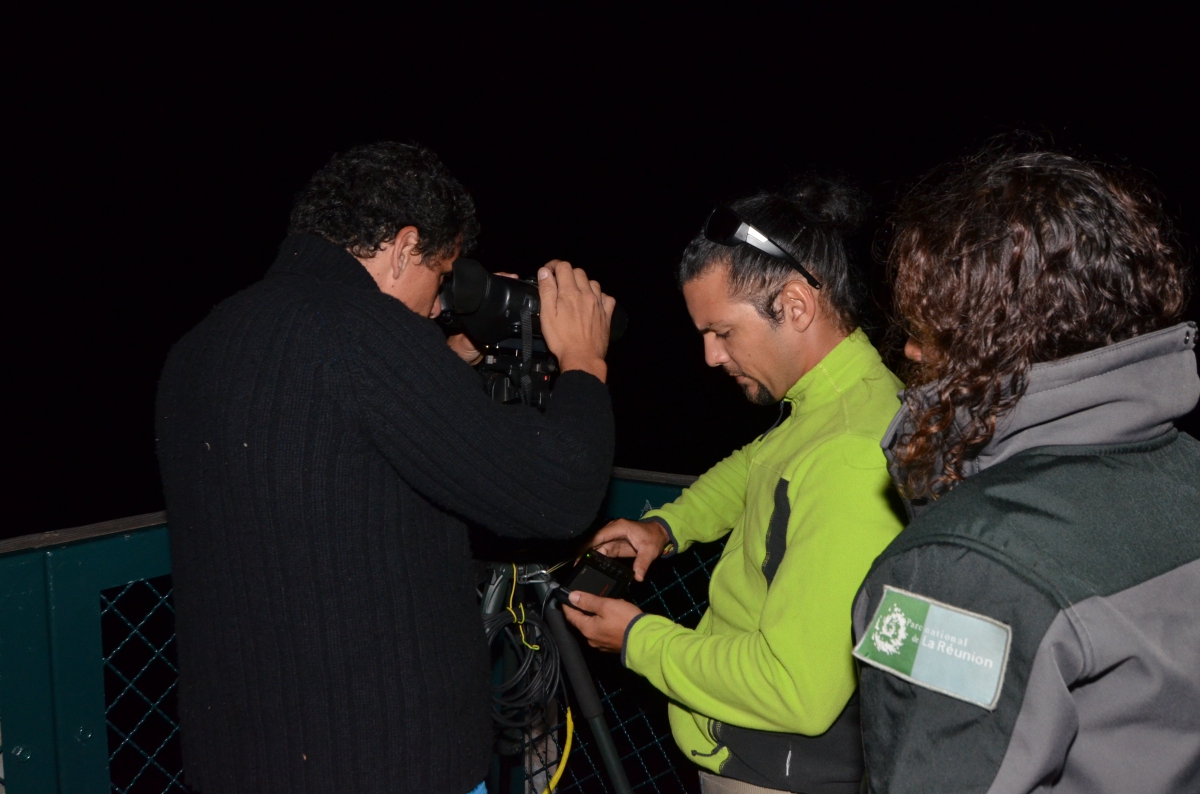
[{"label": "long reddish-brown curly hair of person wearing the patched jacket", "polygon": [[923,348],[906,373],[913,431],[895,449],[910,498],[962,480],[1034,363],[1169,327],[1187,307],[1157,193],[1066,155],[991,150],[938,169],[894,228],[895,309]]}]

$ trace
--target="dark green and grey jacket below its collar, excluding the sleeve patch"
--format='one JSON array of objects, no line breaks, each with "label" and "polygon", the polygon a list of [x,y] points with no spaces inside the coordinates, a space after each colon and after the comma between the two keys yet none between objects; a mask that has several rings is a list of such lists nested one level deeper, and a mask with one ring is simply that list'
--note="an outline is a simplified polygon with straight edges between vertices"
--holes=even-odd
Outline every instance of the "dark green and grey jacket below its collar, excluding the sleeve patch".
[{"label": "dark green and grey jacket below its collar, excluding the sleeve patch", "polygon": [[[863,667],[878,792],[1200,790],[1200,445],[1031,450],[940,500],[876,561],[884,585],[1012,628],[994,710]],[[1187,660],[1192,660],[1188,662]]]}]

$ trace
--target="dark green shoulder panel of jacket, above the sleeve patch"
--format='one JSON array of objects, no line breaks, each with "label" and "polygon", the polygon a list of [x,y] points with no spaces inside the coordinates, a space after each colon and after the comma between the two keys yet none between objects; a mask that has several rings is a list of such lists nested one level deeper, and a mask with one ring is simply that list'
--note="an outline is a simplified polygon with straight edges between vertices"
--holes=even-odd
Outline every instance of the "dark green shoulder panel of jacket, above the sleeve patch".
[{"label": "dark green shoulder panel of jacket, above the sleeve patch", "polygon": [[1028,450],[937,500],[875,569],[931,543],[976,551],[1060,607],[1123,590],[1200,558],[1200,443],[1170,429]]}]

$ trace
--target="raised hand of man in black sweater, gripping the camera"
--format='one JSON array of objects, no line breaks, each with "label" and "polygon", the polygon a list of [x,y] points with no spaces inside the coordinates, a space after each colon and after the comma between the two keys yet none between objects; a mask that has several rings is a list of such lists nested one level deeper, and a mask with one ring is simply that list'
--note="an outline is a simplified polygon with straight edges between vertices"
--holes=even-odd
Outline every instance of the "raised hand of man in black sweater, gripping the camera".
[{"label": "raised hand of man in black sweater, gripping the camera", "polygon": [[608,325],[617,301],[570,263],[554,259],[538,271],[541,333],[563,372],[582,369],[600,380],[608,375]]}]

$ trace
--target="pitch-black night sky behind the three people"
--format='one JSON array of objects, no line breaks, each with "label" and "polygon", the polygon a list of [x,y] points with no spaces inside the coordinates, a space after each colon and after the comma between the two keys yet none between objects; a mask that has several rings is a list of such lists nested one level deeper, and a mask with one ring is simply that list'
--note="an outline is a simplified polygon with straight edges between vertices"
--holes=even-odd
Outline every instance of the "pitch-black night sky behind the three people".
[{"label": "pitch-black night sky behind the three people", "polygon": [[[883,306],[872,248],[896,197],[1025,130],[1147,176],[1195,259],[1194,28],[1132,5],[61,13],[10,16],[4,36],[0,536],[162,507],[167,350],[262,276],[292,197],[355,144],[437,151],[475,197],[492,269],[565,258],[625,305],[617,463],[643,469],[698,474],[774,417],[704,367],[674,288],[716,199],[812,169],[852,178],[875,199],[854,245]],[[880,339],[883,312],[871,323]]]}]

